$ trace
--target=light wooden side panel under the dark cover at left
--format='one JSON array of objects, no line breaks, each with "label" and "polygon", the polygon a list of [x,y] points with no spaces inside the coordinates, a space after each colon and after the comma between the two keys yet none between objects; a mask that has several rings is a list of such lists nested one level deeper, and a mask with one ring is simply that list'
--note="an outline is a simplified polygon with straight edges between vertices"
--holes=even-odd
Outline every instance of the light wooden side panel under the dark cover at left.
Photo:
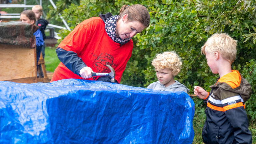
[{"label": "light wooden side panel under the dark cover at left", "polygon": [[0,44],[0,81],[37,77],[36,48]]}]

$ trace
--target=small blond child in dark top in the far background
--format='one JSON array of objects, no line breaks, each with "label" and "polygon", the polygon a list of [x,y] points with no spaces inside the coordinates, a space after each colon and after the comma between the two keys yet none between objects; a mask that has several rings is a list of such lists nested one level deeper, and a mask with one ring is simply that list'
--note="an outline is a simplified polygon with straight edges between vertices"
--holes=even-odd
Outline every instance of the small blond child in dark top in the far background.
[{"label": "small blond child in dark top in the far background", "polygon": [[[41,18],[42,14],[43,14],[43,8],[40,5],[35,5],[32,7],[32,11],[35,13],[35,16],[36,16],[36,25],[39,27],[39,30],[43,34],[43,40],[45,40],[44,30],[45,30],[46,26],[48,25],[48,22],[45,19]],[[45,55],[44,50],[45,50],[45,43],[42,46],[42,50],[41,50],[43,58]]]}]

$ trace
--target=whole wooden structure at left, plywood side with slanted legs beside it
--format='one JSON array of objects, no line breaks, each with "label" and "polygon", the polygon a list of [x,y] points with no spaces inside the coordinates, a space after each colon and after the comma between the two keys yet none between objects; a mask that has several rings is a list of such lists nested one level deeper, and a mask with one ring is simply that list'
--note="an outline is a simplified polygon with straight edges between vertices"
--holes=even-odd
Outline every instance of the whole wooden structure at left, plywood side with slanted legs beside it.
[{"label": "whole wooden structure at left, plywood side with slanted legs beside it", "polygon": [[[42,53],[36,64],[36,48],[0,44],[0,81],[17,83],[50,82]],[[41,67],[41,68],[39,68]],[[37,70],[39,77],[37,77]]]}]

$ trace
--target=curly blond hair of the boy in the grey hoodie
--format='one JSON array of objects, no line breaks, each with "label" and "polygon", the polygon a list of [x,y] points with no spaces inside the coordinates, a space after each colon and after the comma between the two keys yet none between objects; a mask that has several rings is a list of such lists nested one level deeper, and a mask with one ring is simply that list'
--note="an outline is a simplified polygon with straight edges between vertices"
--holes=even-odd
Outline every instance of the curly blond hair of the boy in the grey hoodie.
[{"label": "curly blond hair of the boy in the grey hoodie", "polygon": [[181,61],[181,58],[175,51],[168,51],[162,54],[157,54],[156,58],[152,61],[152,66],[155,67],[156,71],[168,68],[175,76],[181,70]]}]

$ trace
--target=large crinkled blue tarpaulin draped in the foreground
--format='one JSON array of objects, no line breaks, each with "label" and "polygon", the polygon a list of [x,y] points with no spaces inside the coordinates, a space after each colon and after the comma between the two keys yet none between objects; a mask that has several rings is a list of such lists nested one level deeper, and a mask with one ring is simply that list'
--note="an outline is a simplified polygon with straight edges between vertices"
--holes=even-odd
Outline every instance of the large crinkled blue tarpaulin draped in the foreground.
[{"label": "large crinkled blue tarpaulin draped in the foreground", "polygon": [[100,81],[0,82],[1,144],[188,144],[194,102]]}]

